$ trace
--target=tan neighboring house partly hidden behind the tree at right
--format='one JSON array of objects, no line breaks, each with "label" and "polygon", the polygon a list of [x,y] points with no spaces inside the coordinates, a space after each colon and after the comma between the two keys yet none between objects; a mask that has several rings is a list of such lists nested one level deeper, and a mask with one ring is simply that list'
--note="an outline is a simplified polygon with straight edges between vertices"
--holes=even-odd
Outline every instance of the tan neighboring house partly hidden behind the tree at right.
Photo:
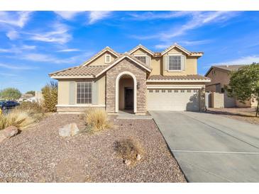
[{"label": "tan neighboring house partly hidden behind the tree at right", "polygon": [[235,98],[228,98],[224,86],[228,86],[230,81],[232,71],[237,71],[239,68],[244,67],[245,64],[236,64],[236,65],[218,65],[212,66],[208,72],[206,72],[205,76],[211,79],[210,83],[206,83],[206,91],[222,93],[224,96],[220,96],[216,94],[215,98],[221,98],[224,101],[224,106],[226,108],[238,106],[238,107],[251,107],[256,106],[257,101],[255,98],[251,98],[246,103],[241,103],[240,101],[236,101]]}]

